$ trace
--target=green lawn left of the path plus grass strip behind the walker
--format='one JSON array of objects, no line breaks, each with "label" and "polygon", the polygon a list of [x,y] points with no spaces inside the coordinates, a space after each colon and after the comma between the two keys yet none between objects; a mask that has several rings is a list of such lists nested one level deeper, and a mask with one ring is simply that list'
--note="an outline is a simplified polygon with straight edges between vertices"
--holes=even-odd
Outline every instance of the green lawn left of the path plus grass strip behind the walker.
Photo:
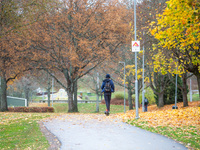
[{"label": "green lawn left of the path plus grass strip behind the walker", "polygon": [[[0,112],[0,149],[34,149],[44,150],[49,143],[40,131],[39,120],[54,117],[58,113],[66,113],[68,105],[54,103],[56,113],[10,113]],[[80,113],[95,113],[95,103],[78,104]],[[105,105],[99,105],[100,113],[104,113]],[[123,106],[111,105],[111,113],[123,112]]]}]

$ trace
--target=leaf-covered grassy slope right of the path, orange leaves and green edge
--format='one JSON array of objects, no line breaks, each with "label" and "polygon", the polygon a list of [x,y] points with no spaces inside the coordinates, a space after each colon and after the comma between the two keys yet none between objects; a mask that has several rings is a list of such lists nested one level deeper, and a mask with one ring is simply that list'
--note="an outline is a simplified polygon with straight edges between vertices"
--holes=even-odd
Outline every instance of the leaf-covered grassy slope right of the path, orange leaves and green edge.
[{"label": "leaf-covered grassy slope right of the path, orange leaves and green edge", "polygon": [[120,115],[133,126],[167,136],[191,150],[200,150],[200,101],[189,102],[188,107],[178,103],[178,109],[172,109],[173,105],[149,106],[148,112],[140,109],[139,119],[135,119],[135,111]]}]

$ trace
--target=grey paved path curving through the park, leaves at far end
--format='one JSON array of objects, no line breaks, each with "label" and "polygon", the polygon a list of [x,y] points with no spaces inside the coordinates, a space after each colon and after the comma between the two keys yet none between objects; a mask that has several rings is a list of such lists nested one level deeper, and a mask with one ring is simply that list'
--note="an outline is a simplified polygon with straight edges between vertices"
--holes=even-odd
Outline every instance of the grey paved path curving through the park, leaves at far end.
[{"label": "grey paved path curving through the park, leaves at far end", "polygon": [[44,125],[61,141],[61,150],[186,150],[183,145],[114,116],[66,114]]}]

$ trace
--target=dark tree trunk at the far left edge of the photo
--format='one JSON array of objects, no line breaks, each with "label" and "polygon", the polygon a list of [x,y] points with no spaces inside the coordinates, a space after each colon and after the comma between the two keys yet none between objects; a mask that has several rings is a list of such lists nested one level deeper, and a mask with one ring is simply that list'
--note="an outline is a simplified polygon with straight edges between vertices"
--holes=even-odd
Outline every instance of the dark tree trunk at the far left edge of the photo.
[{"label": "dark tree trunk at the far left edge of the photo", "polygon": [[1,77],[1,111],[8,111],[6,78]]}]

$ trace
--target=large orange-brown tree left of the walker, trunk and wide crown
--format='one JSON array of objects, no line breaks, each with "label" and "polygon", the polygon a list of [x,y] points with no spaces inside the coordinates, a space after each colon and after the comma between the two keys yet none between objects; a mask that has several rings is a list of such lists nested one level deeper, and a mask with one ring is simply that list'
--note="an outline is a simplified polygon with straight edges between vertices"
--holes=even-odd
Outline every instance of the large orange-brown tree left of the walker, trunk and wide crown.
[{"label": "large orange-brown tree left of the walker, trunk and wide crown", "polygon": [[28,29],[32,61],[40,62],[47,72],[63,74],[65,82],[51,76],[67,91],[68,111],[78,111],[74,103],[77,80],[125,42],[129,31],[126,8],[117,1],[70,0],[43,18]]}]

